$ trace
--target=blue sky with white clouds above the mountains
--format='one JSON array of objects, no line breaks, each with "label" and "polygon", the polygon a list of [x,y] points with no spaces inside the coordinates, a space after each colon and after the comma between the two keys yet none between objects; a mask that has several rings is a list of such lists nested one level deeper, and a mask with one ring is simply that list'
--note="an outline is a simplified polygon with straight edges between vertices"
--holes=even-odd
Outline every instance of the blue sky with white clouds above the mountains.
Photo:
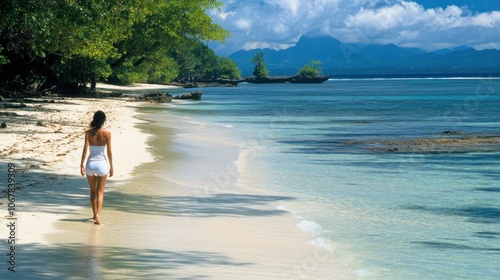
[{"label": "blue sky with white clouds above the mountains", "polygon": [[303,35],[436,50],[500,49],[499,0],[221,0],[210,14],[233,35],[219,55],[285,49]]}]

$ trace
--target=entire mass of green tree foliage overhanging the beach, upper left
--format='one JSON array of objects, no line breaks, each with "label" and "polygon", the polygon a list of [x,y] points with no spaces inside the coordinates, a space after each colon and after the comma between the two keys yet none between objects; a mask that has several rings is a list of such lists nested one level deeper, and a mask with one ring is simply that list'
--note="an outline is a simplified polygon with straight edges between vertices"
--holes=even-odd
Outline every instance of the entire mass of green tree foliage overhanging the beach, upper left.
[{"label": "entire mass of green tree foliage overhanging the beach, upper left", "polygon": [[176,53],[230,36],[206,11],[218,0],[3,0],[0,64],[5,88],[112,78],[165,83]]}]

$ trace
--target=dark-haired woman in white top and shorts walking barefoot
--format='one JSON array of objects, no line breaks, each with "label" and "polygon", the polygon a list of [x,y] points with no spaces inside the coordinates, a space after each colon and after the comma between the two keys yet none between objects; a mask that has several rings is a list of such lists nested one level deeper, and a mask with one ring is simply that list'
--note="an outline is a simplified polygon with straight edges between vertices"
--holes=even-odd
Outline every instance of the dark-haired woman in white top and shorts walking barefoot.
[{"label": "dark-haired woman in white top and shorts walking barefoot", "polygon": [[[90,205],[94,212],[94,224],[101,224],[100,214],[104,202],[104,187],[106,179],[113,176],[113,155],[111,153],[111,133],[102,128],[106,121],[106,114],[103,111],[94,113],[94,118],[90,122],[90,129],[85,131],[85,144],[83,146],[80,173],[87,175],[90,187]],[[84,166],[85,156],[89,149],[87,165]],[[107,150],[108,160],[104,155]]]}]

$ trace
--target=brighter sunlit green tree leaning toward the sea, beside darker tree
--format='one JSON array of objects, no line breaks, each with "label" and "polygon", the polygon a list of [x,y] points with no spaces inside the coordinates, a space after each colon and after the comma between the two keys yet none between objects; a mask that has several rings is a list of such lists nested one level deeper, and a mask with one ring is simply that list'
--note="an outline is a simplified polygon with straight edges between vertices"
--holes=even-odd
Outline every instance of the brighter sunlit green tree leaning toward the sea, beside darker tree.
[{"label": "brighter sunlit green tree leaning toward the sea, beside darker tree", "polygon": [[[150,4],[144,8],[144,13],[133,24],[131,36],[115,45],[121,56],[111,61],[113,76],[122,82],[150,80],[152,73],[145,70],[155,68],[154,65],[159,59],[174,58],[179,64],[181,59],[175,58],[173,54],[188,55],[189,51],[184,49],[192,45],[197,46],[200,41],[224,41],[230,36],[228,31],[213,23],[211,17],[206,14],[207,9],[219,7],[219,1],[143,0],[142,2]],[[189,57],[184,59],[185,66],[189,64],[190,59]],[[173,65],[172,60],[167,60],[170,67],[179,67]],[[157,70],[162,71],[160,68]],[[190,67],[169,71],[172,73],[179,71],[185,75],[186,71],[190,71]],[[158,76],[160,73],[155,75]],[[128,77],[126,80],[125,76]]]}]

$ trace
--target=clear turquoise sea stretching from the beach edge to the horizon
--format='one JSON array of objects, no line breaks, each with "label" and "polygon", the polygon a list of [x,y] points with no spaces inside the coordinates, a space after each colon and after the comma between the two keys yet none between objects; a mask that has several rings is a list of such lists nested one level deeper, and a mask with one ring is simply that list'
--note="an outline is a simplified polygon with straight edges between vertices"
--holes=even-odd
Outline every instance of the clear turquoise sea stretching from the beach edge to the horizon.
[{"label": "clear turquoise sea stretching from the beach edge to the horizon", "polygon": [[361,278],[500,278],[500,149],[371,149],[445,131],[500,136],[500,80],[329,80],[202,91],[200,102],[166,105],[165,118],[224,127],[221,137],[241,149],[238,182],[297,198],[280,207]]}]

